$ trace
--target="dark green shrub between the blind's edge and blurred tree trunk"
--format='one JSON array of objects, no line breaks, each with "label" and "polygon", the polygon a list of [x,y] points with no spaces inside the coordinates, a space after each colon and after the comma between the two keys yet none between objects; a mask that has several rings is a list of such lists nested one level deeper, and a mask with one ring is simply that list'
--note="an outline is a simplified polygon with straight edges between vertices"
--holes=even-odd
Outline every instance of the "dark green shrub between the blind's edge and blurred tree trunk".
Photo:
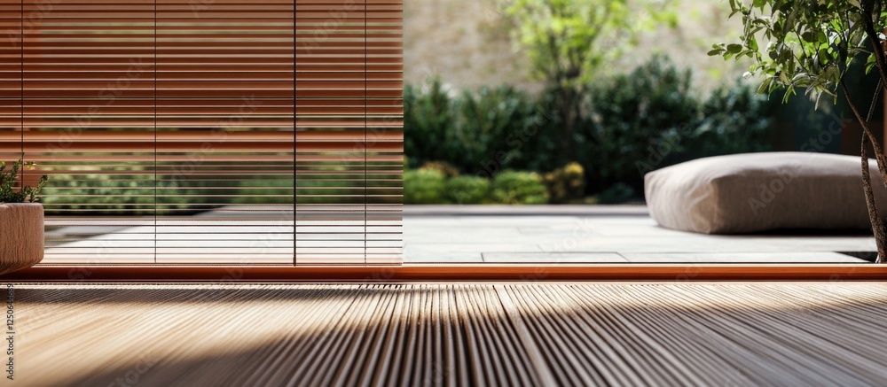
[{"label": "dark green shrub between the blind's edge and blurred tree trunk", "polygon": [[[463,174],[522,168],[539,130],[537,101],[511,87],[451,94],[440,80],[404,88],[409,166],[445,161]],[[532,134],[532,135],[530,135]]]}]

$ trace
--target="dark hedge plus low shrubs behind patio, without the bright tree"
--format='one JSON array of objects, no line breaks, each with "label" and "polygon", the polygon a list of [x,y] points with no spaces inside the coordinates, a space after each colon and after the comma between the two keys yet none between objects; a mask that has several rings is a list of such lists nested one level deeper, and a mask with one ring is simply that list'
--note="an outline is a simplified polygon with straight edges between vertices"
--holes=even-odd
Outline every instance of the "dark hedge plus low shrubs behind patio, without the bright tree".
[{"label": "dark hedge plus low shrubs behind patio, without the bright tree", "polygon": [[[642,201],[644,174],[690,159],[757,151],[841,151],[840,135],[818,143],[819,148],[803,147],[820,133],[846,129],[840,117],[850,116],[841,104],[827,109],[820,104],[818,110],[803,98],[782,104],[780,91],[758,95],[741,79],[700,96],[692,73],[657,55],[624,74],[591,81],[570,138],[575,156],[566,163],[558,153],[561,119],[551,108],[554,98],[548,91],[532,95],[502,86],[457,92],[439,79],[408,85],[406,166],[437,171],[446,166],[444,180],[457,174],[475,179],[472,184],[422,188],[444,190],[423,194],[443,197],[435,203],[527,203],[495,194],[499,174],[522,171],[538,175],[546,188],[546,195],[538,197],[546,197],[546,203],[614,204]],[[872,92],[865,79],[852,82],[859,85],[856,93]],[[789,133],[787,127],[793,130]],[[488,182],[493,186],[489,197],[452,198],[460,195],[453,190],[467,192]],[[416,184],[420,181],[404,180],[404,203],[420,203],[412,201]],[[477,192],[468,196],[478,197]]]}]

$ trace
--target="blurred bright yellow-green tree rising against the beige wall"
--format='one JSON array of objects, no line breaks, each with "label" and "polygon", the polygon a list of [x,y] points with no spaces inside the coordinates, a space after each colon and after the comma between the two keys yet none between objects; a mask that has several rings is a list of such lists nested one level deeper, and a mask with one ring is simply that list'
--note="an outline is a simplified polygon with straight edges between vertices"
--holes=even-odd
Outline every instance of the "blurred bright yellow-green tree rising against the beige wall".
[{"label": "blurred bright yellow-green tree rising against the beige wall", "polygon": [[603,66],[637,43],[640,33],[663,22],[671,0],[506,0],[504,10],[518,25],[517,41],[530,56],[532,74],[553,89],[561,120],[561,163],[573,157],[587,85]]}]

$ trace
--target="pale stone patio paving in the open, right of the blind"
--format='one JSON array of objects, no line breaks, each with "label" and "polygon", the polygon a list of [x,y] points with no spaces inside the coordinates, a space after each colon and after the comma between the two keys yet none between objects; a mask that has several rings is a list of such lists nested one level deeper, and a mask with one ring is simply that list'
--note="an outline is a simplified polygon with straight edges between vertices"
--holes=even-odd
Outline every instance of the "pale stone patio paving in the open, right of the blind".
[{"label": "pale stone patio paving in the open, right of the blind", "polygon": [[863,263],[871,236],[708,236],[662,228],[643,205],[404,206],[406,262]]}]

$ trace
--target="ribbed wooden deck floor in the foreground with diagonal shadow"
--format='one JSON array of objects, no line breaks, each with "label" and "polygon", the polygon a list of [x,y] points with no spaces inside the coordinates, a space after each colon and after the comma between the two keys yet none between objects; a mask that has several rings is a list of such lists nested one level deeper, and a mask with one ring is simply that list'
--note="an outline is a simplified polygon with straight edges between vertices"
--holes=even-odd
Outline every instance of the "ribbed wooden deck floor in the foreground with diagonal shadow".
[{"label": "ribbed wooden deck floor in the foreground with diagonal shadow", "polygon": [[8,385],[887,378],[880,283],[20,285],[13,306]]}]

